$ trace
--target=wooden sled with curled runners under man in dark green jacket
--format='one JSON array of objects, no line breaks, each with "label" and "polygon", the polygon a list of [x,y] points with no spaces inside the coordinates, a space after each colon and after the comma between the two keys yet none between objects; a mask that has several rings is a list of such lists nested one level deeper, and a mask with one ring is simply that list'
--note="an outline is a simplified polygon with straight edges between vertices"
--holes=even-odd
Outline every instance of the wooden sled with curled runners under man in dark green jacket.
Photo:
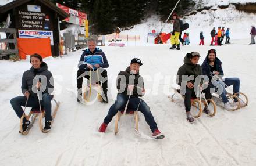
[{"label": "wooden sled with curled runners under man in dark green jacket", "polygon": [[[176,89],[176,88],[173,88],[173,87],[172,87],[172,89],[175,93],[173,93],[172,96],[168,96],[168,97],[172,100],[172,102],[174,102],[173,97],[176,93],[180,94],[180,90]],[[184,98],[183,95],[182,95],[182,97]],[[208,104],[208,102],[209,102],[209,104]],[[206,100],[205,96],[204,96],[204,93],[201,90],[200,90],[200,97],[199,98],[196,98],[196,97],[191,98],[191,106],[193,106],[193,107],[191,107],[190,113],[194,118],[198,118],[198,117],[201,116],[202,106],[204,106],[204,107],[208,106],[208,109],[211,112],[209,114],[209,116],[214,117],[215,114],[216,114],[216,104],[215,104],[214,100],[212,100],[212,99]]]}]

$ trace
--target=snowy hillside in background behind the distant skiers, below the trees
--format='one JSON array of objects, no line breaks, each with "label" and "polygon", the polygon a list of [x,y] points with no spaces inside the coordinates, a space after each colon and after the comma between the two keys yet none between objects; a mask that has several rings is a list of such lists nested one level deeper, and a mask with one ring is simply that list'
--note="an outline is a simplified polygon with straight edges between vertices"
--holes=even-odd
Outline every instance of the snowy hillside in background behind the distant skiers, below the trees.
[{"label": "snowy hillside in background behind the distant skiers, below the trees", "polygon": [[[230,41],[233,39],[248,39],[250,42],[251,26],[256,26],[256,15],[253,13],[240,12],[236,10],[234,5],[230,5],[229,8],[217,10],[203,10],[195,15],[182,18],[186,23],[190,24],[188,30],[184,32],[189,33],[191,44],[199,44],[200,31],[204,32],[206,44],[210,44],[211,35],[210,32],[213,27],[218,30],[218,27],[225,27],[225,30],[230,28]],[[159,21],[158,16],[152,16],[144,23],[134,26],[131,30],[122,31],[121,34],[140,35],[142,42],[147,42],[147,33],[151,33],[152,29],[155,29],[157,33],[161,30],[164,23]],[[163,32],[172,31],[173,24],[166,24],[163,28]],[[183,33],[184,33],[183,32]],[[150,42],[153,42],[151,38]]]}]

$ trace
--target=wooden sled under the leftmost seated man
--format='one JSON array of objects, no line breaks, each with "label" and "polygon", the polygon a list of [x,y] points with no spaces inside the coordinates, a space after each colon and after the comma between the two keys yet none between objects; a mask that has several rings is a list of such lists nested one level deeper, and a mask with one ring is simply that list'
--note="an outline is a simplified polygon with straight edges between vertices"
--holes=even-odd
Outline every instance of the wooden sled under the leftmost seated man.
[{"label": "wooden sled under the leftmost seated man", "polygon": [[[54,112],[52,113],[52,122],[51,122],[51,124],[53,124],[53,122],[54,122],[54,118],[56,116],[56,113],[59,109],[59,104],[60,104],[55,99],[52,99],[52,100],[54,100],[56,106],[55,106]],[[19,133],[21,133],[22,135],[27,135],[38,116],[40,116],[40,119],[39,119],[39,128],[40,128],[40,130],[44,133],[47,132],[47,131],[44,131],[44,128],[43,128],[43,125],[42,125],[42,118],[44,118],[44,116],[45,116],[44,107],[38,107],[38,108],[32,108],[29,112],[29,115],[26,115],[24,113],[23,116],[20,118],[20,131],[19,131]],[[23,131],[23,129],[22,129],[23,119],[26,118],[29,121],[30,117],[31,117],[31,123],[28,126],[27,131]]]}]

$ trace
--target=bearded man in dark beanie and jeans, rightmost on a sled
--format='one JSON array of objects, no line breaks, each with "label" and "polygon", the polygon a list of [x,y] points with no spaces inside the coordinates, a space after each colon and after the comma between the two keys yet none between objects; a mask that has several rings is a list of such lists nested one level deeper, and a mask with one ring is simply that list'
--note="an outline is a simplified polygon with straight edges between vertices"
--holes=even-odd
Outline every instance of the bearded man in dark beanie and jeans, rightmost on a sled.
[{"label": "bearded man in dark beanie and jeans, rightmost on a sled", "polygon": [[[209,88],[222,87],[222,89],[218,89],[221,91],[222,102],[224,103],[224,107],[226,110],[232,110],[233,106],[230,105],[229,100],[227,99],[227,92],[225,91],[225,86],[233,85],[233,93],[238,93],[240,89],[240,80],[239,78],[225,78],[221,81],[221,77],[223,77],[224,73],[222,70],[222,62],[216,57],[216,50],[210,49],[208,50],[207,56],[205,57],[204,62],[202,63],[202,73],[209,77]],[[237,99],[234,98],[234,104],[237,104]],[[245,103],[240,100],[241,106]]]}]

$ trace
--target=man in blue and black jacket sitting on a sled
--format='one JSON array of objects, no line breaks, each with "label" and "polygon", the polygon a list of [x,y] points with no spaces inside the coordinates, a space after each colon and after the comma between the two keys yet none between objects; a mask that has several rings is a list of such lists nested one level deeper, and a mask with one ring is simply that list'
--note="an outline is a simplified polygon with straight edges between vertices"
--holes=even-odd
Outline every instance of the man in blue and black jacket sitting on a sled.
[{"label": "man in blue and black jacket sitting on a sled", "polygon": [[[77,70],[77,102],[82,100],[82,85],[83,77],[90,79],[88,71],[99,70],[99,82],[101,83],[104,96],[102,96],[102,102],[108,103],[108,75],[105,68],[108,68],[108,60],[105,53],[96,47],[96,41],[94,39],[88,39],[88,49],[83,50],[83,54],[80,57]],[[95,82],[96,83],[96,82]]]}]

